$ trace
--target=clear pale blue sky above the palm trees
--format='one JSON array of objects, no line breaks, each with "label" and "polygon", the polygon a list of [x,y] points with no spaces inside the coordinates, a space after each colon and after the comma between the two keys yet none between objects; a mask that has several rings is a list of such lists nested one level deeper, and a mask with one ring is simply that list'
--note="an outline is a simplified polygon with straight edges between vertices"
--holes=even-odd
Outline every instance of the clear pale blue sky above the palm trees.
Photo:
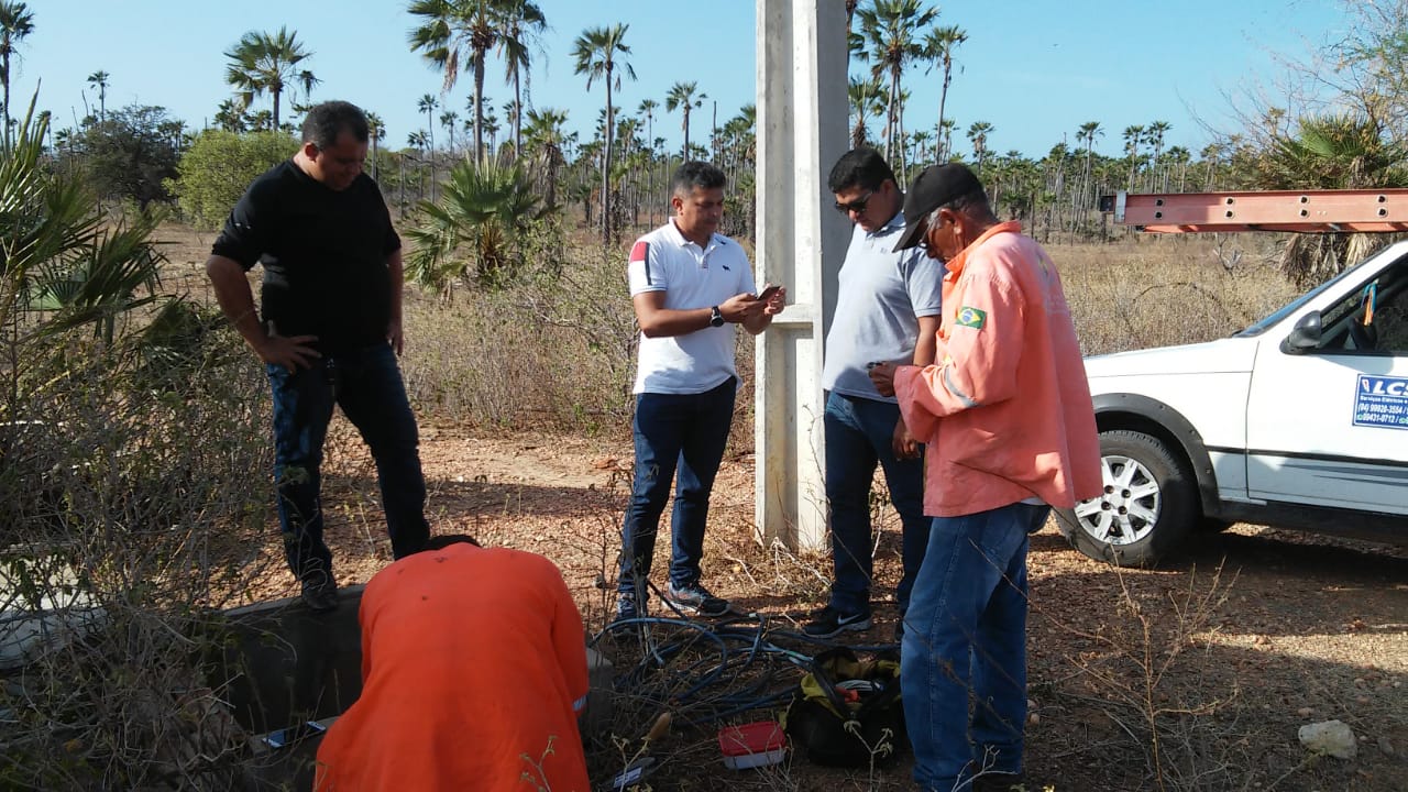
[{"label": "clear pale blue sky above the palm trees", "polygon": [[[573,73],[573,39],[587,27],[628,23],[627,44],[636,80],[624,80],[615,104],[635,113],[642,99],[662,111],[655,135],[679,147],[679,113],[663,113],[665,94],[680,80],[696,80],[708,94],[691,120],[691,140],[705,140],[714,103],[718,123],[755,100],[755,4],[714,0],[684,6],[660,0],[538,0],[551,31],[531,78],[535,107],[569,111],[569,130],[583,138],[605,97],[600,83],[587,92]],[[835,0],[841,1],[841,0]],[[39,107],[55,125],[83,116],[84,92],[96,110],[87,75],[111,75],[107,106],[159,104],[200,128],[230,96],[224,51],[249,30],[298,32],[307,61],[322,79],[314,99],[346,99],[373,110],[387,125],[387,142],[406,145],[425,127],[415,103],[439,94],[442,76],[406,45],[414,20],[404,0],[28,0],[35,31],[18,47],[13,101],[23,111],[42,79]],[[1209,140],[1207,125],[1233,130],[1233,104],[1249,85],[1273,85],[1274,55],[1304,59],[1311,48],[1343,37],[1347,21],[1335,0],[952,0],[939,3],[941,24],[957,24],[969,41],[956,52],[957,69],[946,116],[959,132],[973,121],[995,127],[994,151],[1039,156],[1063,140],[1071,145],[1084,121],[1105,130],[1097,151],[1118,155],[1119,132],[1131,124],[1173,124],[1166,145],[1197,154]],[[690,7],[690,16],[683,8]],[[707,8],[707,13],[698,13]],[[862,66],[853,66],[857,72]],[[511,99],[503,70],[491,61],[486,94],[501,106]],[[939,79],[917,68],[907,73],[911,103],[907,128],[932,127]],[[469,116],[472,79],[462,75],[442,100]],[[256,107],[268,107],[268,99]],[[436,113],[438,114],[438,113]],[[503,111],[498,113],[504,118]],[[507,125],[507,124],[505,124]],[[435,138],[444,142],[436,123]],[[966,140],[955,135],[955,147]]]}]

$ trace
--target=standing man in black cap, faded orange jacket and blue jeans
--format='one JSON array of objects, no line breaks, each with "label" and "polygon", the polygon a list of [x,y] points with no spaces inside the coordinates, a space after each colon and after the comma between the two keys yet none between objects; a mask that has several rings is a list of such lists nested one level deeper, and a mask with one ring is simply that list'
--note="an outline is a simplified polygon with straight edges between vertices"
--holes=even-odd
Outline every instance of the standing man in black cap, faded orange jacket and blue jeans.
[{"label": "standing man in black cap, faded orange jacket and blue jeans", "polygon": [[872,369],[928,445],[934,524],[901,645],[914,776],[1005,791],[1022,782],[1026,537],[1100,492],[1095,414],[1056,266],[994,217],[977,176],[926,169],[904,220],[895,249],[948,266],[936,362]]}]

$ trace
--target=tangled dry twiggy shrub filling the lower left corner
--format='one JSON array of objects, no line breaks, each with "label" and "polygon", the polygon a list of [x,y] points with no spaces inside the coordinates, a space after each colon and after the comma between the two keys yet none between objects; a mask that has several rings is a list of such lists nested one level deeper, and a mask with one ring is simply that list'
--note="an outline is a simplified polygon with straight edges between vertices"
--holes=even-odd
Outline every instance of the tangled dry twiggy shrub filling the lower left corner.
[{"label": "tangled dry twiggy shrub filling the lower left corner", "polygon": [[[11,378],[0,421],[0,788],[227,789],[244,738],[199,657],[260,574],[268,396],[232,331],[180,382],[68,341]],[[55,349],[49,349],[55,352]],[[44,607],[42,621],[34,621]],[[30,617],[27,620],[25,617]]]}]

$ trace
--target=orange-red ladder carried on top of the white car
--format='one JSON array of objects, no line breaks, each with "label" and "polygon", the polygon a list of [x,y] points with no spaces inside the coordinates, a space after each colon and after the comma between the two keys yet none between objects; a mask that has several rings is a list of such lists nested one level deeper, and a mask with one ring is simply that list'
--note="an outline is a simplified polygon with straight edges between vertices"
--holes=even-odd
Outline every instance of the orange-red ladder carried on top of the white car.
[{"label": "orange-red ladder carried on top of the white car", "polygon": [[1102,196],[1115,223],[1155,234],[1408,231],[1408,189],[1243,190]]}]

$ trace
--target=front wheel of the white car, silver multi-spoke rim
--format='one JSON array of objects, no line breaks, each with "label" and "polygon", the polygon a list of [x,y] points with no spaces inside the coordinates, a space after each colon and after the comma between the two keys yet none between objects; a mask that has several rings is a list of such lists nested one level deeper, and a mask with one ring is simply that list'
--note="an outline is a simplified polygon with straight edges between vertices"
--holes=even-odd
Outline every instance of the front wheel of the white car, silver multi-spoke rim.
[{"label": "front wheel of the white car, silver multi-spoke rim", "polygon": [[1183,544],[1200,513],[1197,488],[1164,441],[1139,431],[1100,433],[1105,489],[1056,523],[1071,547],[1118,567],[1153,567]]}]

